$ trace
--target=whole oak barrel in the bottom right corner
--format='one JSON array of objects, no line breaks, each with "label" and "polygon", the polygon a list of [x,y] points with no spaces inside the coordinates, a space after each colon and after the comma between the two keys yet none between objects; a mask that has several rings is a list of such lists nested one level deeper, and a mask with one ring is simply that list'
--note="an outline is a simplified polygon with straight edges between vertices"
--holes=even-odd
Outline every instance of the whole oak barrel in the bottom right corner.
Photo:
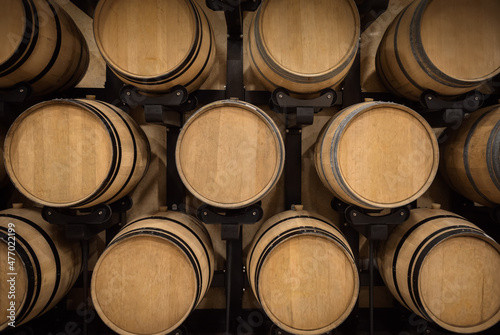
[{"label": "whole oak barrel in the bottom right corner", "polygon": [[441,209],[414,209],[380,245],[378,267],[399,302],[456,333],[500,320],[500,246],[474,224]]}]

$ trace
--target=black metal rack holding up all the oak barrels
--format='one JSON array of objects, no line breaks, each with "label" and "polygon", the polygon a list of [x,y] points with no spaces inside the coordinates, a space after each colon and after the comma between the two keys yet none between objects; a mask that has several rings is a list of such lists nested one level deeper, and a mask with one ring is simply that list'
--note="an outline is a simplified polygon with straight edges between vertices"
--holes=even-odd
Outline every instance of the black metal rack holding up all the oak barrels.
[{"label": "black metal rack holding up all the oak barrels", "polygon": [[[73,0],[80,8],[88,14],[93,13],[97,1]],[[380,100],[394,100],[392,95],[362,93],[360,83],[360,54],[358,52],[354,64],[343,83],[343,90],[335,92],[326,90],[321,92],[315,99],[302,100],[292,97],[286,90],[277,89],[273,93],[267,91],[247,91],[243,82],[243,29],[242,12],[253,11],[260,5],[261,0],[206,0],[207,6],[216,11],[224,11],[227,23],[227,76],[225,90],[199,90],[188,94],[184,87],[176,87],[170,93],[161,96],[146,96],[131,86],[123,83],[109,70],[106,73],[105,89],[75,89],[66,93],[67,96],[82,95],[81,93],[96,94],[99,99],[108,101],[127,109],[128,107],[144,106],[146,121],[165,125],[167,132],[167,205],[173,210],[183,210],[186,191],[180,180],[175,163],[175,146],[180,129],[185,121],[185,113],[193,111],[198,103],[204,104],[225,98],[238,98],[255,105],[270,103],[271,108],[286,117],[286,165],[285,178],[285,210],[290,209],[293,204],[302,203],[301,190],[301,160],[302,160],[302,129],[312,124],[314,115],[321,108],[332,106],[343,106],[344,108],[363,101],[365,97],[379,98]],[[382,1],[360,1],[360,12],[375,19],[387,8],[387,0]],[[373,13],[376,11],[376,13]],[[29,99],[29,87],[21,85],[11,92],[0,95],[0,116],[11,117],[17,114],[26,104],[31,104],[36,99]],[[397,99],[396,99],[397,100]],[[421,115],[433,127],[458,127],[467,113],[477,110],[486,98],[478,92],[455,99],[445,100],[433,92],[425,92],[422,95],[420,105],[413,106],[412,103],[402,101],[415,107]],[[10,111],[10,112],[8,112]],[[468,212],[471,217],[490,217],[493,221],[500,221],[500,209],[483,210],[478,209],[469,201],[458,198],[455,201],[457,213]],[[60,209],[44,208],[44,218],[54,224],[64,224],[68,238],[82,241],[84,264],[83,288],[85,309],[88,309],[88,241],[96,233],[109,229],[111,236],[113,230],[120,227],[120,223],[126,221],[125,212],[131,206],[130,199],[124,198],[113,205],[99,205],[87,213],[66,212]],[[359,234],[369,240],[369,321],[367,328],[370,334],[374,334],[374,296],[373,285],[375,282],[376,269],[374,267],[373,251],[376,241],[387,238],[390,225],[401,224],[408,218],[408,207],[393,209],[385,216],[371,216],[362,208],[347,205],[338,199],[332,201],[332,207],[340,213],[341,223],[344,224],[344,234],[359,259]],[[244,311],[242,308],[242,294],[246,275],[242,264],[242,225],[254,224],[262,218],[262,208],[252,205],[239,210],[222,210],[203,205],[198,208],[198,217],[206,224],[221,224],[221,240],[226,241],[226,266],[225,270],[216,272],[212,286],[224,287],[226,290],[226,309],[224,311],[226,334],[251,333],[265,322],[259,320],[257,324],[247,324],[244,320],[250,320],[255,311]],[[496,228],[498,231],[498,228]],[[114,232],[116,233],[116,232]],[[500,234],[499,234],[500,235]],[[497,235],[498,236],[498,235]],[[196,314],[196,313],[195,313]],[[210,312],[207,312],[210,314]],[[358,316],[356,311],[354,317]],[[218,314],[217,314],[218,315]],[[262,314],[259,314],[262,317]],[[198,320],[195,315],[193,320]],[[243,320],[243,321],[242,321]],[[189,319],[188,319],[189,321]],[[419,319],[415,319],[417,333],[426,334],[449,334],[439,329],[433,329],[427,323],[424,328],[419,328]],[[196,323],[196,321],[195,321]],[[251,323],[251,322],[250,322]],[[267,322],[268,323],[268,322]],[[87,322],[83,321],[84,334],[87,333]],[[338,334],[350,334],[349,327],[345,330],[335,330]],[[365,329],[357,329],[360,333]],[[174,333],[183,334],[186,330],[178,329]],[[283,335],[286,332],[273,327],[271,332],[275,335]],[[398,332],[400,333],[400,332]],[[408,333],[409,334],[409,333]]]}]

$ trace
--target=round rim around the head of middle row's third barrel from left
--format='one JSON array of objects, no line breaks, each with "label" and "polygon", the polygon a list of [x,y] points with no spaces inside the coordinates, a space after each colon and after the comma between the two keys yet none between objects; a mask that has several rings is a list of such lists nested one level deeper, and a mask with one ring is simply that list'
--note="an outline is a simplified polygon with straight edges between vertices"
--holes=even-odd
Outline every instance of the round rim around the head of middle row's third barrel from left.
[{"label": "round rim around the head of middle row's third barrel from left", "polygon": [[[382,203],[382,202],[372,201],[372,200],[367,199],[366,197],[360,195],[359,192],[357,192],[356,190],[353,190],[352,188],[347,188],[347,187],[346,188],[341,187],[341,188],[344,192],[346,192],[348,194],[348,196],[351,199],[354,199],[357,202],[360,202],[363,205],[363,207],[366,207],[366,208],[394,208],[394,207],[404,206],[404,205],[407,205],[407,204],[411,203],[412,201],[416,200],[423,193],[425,193],[427,191],[427,189],[430,187],[430,185],[434,181],[434,178],[435,178],[437,171],[438,171],[439,145],[437,143],[436,136],[434,135],[434,132],[433,132],[431,126],[427,123],[427,121],[425,121],[425,119],[420,114],[418,114],[417,112],[415,112],[414,110],[412,110],[411,108],[409,108],[407,106],[393,103],[393,102],[383,102],[383,101],[362,102],[362,103],[358,103],[358,104],[355,104],[353,106],[350,106],[350,107],[342,110],[341,112],[339,112],[336,116],[332,117],[331,122],[328,124],[325,133],[328,132],[329,129],[333,126],[335,119],[337,119],[337,116],[340,116],[341,113],[353,114],[353,117],[347,121],[347,126],[346,126],[346,129],[347,129],[349,124],[354,119],[356,119],[359,116],[359,114],[371,111],[373,109],[378,109],[378,108],[396,108],[396,109],[403,110],[403,111],[409,113],[411,116],[413,116],[413,118],[415,120],[417,120],[420,123],[420,125],[425,129],[425,131],[429,137],[429,140],[432,144],[432,149],[433,149],[433,164],[432,164],[431,170],[429,171],[429,176],[427,177],[426,182],[411,197],[403,199],[401,201],[392,202],[392,203]],[[333,158],[336,157],[337,146],[341,140],[341,137],[342,137],[344,130],[345,129],[341,130],[339,134],[334,136],[334,140],[335,140],[335,138],[338,138],[337,143],[335,143],[335,141],[333,141],[332,143],[326,143],[327,144],[326,149],[323,149],[323,144],[325,143],[324,137],[318,143],[320,145],[320,150],[319,150],[320,162],[322,162],[324,159],[323,155],[328,154],[328,157],[330,157],[329,160],[331,161],[329,169],[331,170],[330,172],[333,173],[334,176],[337,176],[337,175],[342,176],[342,171],[340,170],[340,167],[337,167],[335,164],[333,164],[334,163]],[[329,149],[329,150],[327,150],[327,149]],[[320,165],[321,165],[321,169],[323,171],[323,174],[325,174],[324,173],[324,168],[325,168],[324,164],[320,163]],[[326,180],[328,181],[328,179],[326,179]],[[328,182],[328,185],[331,189],[335,189],[335,187],[334,187],[335,184]],[[348,202],[350,202],[350,201],[348,201]]]}]

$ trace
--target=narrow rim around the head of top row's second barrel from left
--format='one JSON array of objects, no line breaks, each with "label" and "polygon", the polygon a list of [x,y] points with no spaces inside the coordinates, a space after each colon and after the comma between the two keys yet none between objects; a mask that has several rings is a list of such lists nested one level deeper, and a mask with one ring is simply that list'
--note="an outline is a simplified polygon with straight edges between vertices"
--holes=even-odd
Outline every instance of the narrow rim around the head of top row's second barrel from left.
[{"label": "narrow rim around the head of top row's second barrel from left", "polygon": [[[178,71],[182,70],[185,63],[190,60],[190,55],[196,50],[197,48],[197,38],[199,38],[200,35],[200,30],[201,30],[201,19],[199,20],[197,17],[196,12],[198,11],[196,5],[191,1],[191,0],[184,0],[184,2],[187,4],[187,7],[190,8],[190,14],[193,19],[193,22],[195,22],[196,29],[193,32],[193,35],[191,36],[191,47],[189,50],[186,52],[186,55],[172,68],[168,69],[165,72],[161,72],[155,75],[143,75],[140,73],[133,73],[131,71],[128,71],[124,69],[122,66],[119,66],[111,57],[109,57],[109,53],[106,52],[106,48],[103,46],[101,38],[99,36],[99,23],[100,23],[100,15],[102,13],[102,8],[104,7],[105,3],[110,3],[113,2],[108,1],[108,0],[101,0],[97,4],[97,7],[95,9],[95,14],[94,14],[94,24],[93,24],[93,33],[94,33],[94,39],[97,44],[97,48],[99,52],[101,53],[103,59],[105,60],[106,64],[113,70],[113,72],[117,76],[124,76],[128,80],[155,80],[157,78],[165,78],[169,77],[173,73],[177,73]],[[211,29],[210,29],[211,30]]]}]

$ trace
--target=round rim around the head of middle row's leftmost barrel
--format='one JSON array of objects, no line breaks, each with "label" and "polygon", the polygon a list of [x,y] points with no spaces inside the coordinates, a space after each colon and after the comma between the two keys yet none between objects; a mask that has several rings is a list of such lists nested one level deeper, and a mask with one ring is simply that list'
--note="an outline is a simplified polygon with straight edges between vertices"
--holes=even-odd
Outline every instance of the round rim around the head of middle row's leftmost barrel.
[{"label": "round rim around the head of middle row's leftmost barrel", "polygon": [[[71,99],[54,99],[54,100],[40,102],[40,103],[38,103],[38,104],[36,104],[36,105],[28,108],[21,115],[19,115],[19,117],[17,117],[16,120],[14,120],[14,122],[12,123],[12,125],[9,127],[9,130],[7,131],[7,135],[5,137],[5,142],[4,142],[4,166],[5,166],[5,170],[7,171],[7,174],[9,175],[9,178],[11,179],[12,183],[14,184],[14,186],[23,195],[25,195],[30,200],[33,200],[34,202],[39,203],[41,205],[45,205],[45,206],[58,206],[58,207],[60,207],[61,205],[63,205],[65,207],[66,206],[72,207],[72,206],[77,206],[77,205],[79,205],[82,202],[84,203],[84,202],[88,201],[89,199],[91,199],[94,196],[94,193],[96,192],[96,190],[100,190],[100,189],[102,189],[102,188],[104,188],[106,186],[107,181],[108,181],[110,175],[113,174],[113,169],[111,169],[111,167],[113,166],[113,160],[112,159],[108,162],[108,166],[107,166],[108,175],[104,178],[104,180],[99,185],[97,185],[97,187],[95,188],[95,190],[91,191],[91,193],[87,194],[85,197],[82,197],[80,199],[77,199],[77,200],[74,200],[74,201],[71,201],[71,202],[68,202],[68,201],[66,201],[66,202],[64,202],[64,201],[63,202],[51,202],[51,201],[47,201],[47,200],[41,199],[38,196],[36,196],[35,194],[32,194],[21,183],[18,182],[18,179],[16,178],[16,175],[15,175],[15,171],[14,171],[14,169],[12,168],[12,166],[10,164],[10,158],[11,158],[11,149],[10,149],[10,147],[11,147],[11,142],[12,142],[12,136],[9,136],[9,135],[11,135],[12,132],[14,132],[16,130],[16,128],[19,126],[19,124],[21,122],[23,122],[24,119],[29,114],[31,114],[33,112],[36,112],[41,107],[45,107],[47,105],[56,104],[56,103],[57,104],[67,104],[67,105],[71,105],[71,106],[77,107],[77,108],[81,109],[82,111],[87,112],[87,114],[91,115],[93,118],[99,119],[94,113],[90,112],[83,105],[78,104],[76,102],[76,100],[71,100]],[[102,121],[102,120],[100,120],[100,121]],[[109,130],[106,128],[106,126],[104,124],[103,124],[103,129],[105,129],[106,132],[109,133]],[[110,135],[110,139],[112,139],[111,134],[109,134],[109,135]],[[111,149],[114,151],[114,148],[111,148]]]}]

